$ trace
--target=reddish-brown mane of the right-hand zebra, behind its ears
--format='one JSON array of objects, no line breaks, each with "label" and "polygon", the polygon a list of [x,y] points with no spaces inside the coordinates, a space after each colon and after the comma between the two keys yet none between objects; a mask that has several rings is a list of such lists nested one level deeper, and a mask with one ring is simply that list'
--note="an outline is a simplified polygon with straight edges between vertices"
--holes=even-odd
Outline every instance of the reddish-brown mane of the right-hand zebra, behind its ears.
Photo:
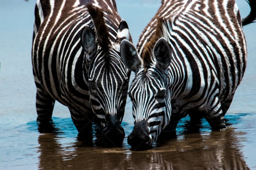
[{"label": "reddish-brown mane of the right-hand zebra, behind its ears", "polygon": [[156,44],[156,41],[159,40],[159,38],[163,37],[163,24],[164,19],[163,18],[157,18],[157,25],[156,25],[156,31],[150,41],[148,41],[142,52],[141,52],[141,58],[143,60],[143,65],[145,69],[148,69],[150,66],[150,63],[152,63],[151,55],[153,53],[153,48]]}]

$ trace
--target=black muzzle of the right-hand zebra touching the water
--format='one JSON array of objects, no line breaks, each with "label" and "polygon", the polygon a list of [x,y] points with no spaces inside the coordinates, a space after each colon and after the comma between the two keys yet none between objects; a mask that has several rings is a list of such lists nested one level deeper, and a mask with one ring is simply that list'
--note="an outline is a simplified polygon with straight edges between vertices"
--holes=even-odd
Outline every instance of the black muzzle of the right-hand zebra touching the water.
[{"label": "black muzzle of the right-hand zebra touching the water", "polygon": [[127,142],[133,150],[145,150],[150,148],[148,123],[146,121],[136,122]]}]

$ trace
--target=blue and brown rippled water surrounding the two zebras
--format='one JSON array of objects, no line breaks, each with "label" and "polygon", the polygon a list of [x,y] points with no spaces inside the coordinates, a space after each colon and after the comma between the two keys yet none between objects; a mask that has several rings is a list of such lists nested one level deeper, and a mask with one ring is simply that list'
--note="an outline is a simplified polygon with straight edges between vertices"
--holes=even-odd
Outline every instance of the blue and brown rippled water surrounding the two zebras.
[{"label": "blue and brown rippled water surrounding the two zebras", "polygon": [[[59,103],[53,111],[56,131],[38,132],[31,64],[35,3],[0,1],[0,169],[256,169],[256,24],[244,27],[248,63],[225,116],[228,129],[211,131],[204,120],[199,133],[193,133],[185,117],[178,124],[176,138],[136,152],[127,144],[133,128],[130,100],[122,122],[123,147],[79,142],[68,109]],[[240,0],[237,4],[245,17],[248,5]],[[160,0],[117,0],[134,44],[159,6]]]}]

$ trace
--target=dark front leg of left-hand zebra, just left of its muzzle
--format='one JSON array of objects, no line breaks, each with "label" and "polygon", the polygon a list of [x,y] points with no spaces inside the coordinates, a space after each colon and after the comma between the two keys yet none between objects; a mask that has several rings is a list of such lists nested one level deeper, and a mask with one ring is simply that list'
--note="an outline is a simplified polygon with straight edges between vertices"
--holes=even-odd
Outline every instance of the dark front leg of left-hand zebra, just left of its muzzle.
[{"label": "dark front leg of left-hand zebra, just left of its muzzle", "polygon": [[79,140],[92,141],[92,117],[69,109],[72,121],[78,131]]}]

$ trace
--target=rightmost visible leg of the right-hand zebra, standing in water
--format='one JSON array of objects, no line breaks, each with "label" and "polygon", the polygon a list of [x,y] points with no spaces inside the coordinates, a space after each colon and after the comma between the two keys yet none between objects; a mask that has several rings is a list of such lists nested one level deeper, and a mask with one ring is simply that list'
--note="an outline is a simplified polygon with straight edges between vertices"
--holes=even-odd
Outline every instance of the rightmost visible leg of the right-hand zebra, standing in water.
[{"label": "rightmost visible leg of the right-hand zebra, standing in water", "polygon": [[210,109],[206,109],[205,112],[202,112],[204,114],[204,118],[209,122],[213,130],[227,128],[224,121],[221,104],[217,98],[215,98],[215,101],[217,101],[215,105],[208,107]]}]

